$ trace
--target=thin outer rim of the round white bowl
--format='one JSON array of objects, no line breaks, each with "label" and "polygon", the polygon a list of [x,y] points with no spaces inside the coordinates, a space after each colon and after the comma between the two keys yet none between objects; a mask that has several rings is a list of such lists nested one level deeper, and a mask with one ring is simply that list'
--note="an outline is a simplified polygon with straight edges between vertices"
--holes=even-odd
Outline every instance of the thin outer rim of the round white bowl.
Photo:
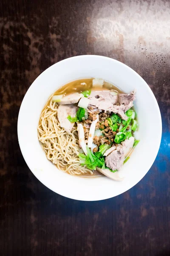
[{"label": "thin outer rim of the round white bowl", "polygon": [[[103,59],[109,59],[110,61],[117,62],[119,65],[126,66],[126,68],[129,69],[131,73],[133,73],[134,75],[138,76],[138,78],[147,86],[147,89],[150,91],[151,95],[153,96],[153,99],[154,99],[154,102],[155,102],[155,107],[156,107],[156,109],[157,109],[157,113],[159,114],[159,116],[158,116],[158,124],[159,124],[159,130],[158,130],[158,131],[159,131],[159,133],[157,134],[157,138],[156,138],[156,140],[157,140],[157,144],[156,144],[156,145],[157,145],[157,149],[156,149],[156,152],[157,152],[157,153],[156,153],[154,159],[151,161],[149,168],[147,168],[147,169],[148,169],[147,172],[148,172],[148,171],[150,170],[151,166],[153,165],[153,163],[154,163],[154,161],[155,161],[155,159],[156,159],[156,156],[157,156],[157,154],[158,154],[158,152],[159,152],[159,147],[160,147],[160,144],[161,144],[161,136],[162,136],[161,112],[160,112],[159,105],[158,105],[158,102],[157,102],[157,100],[156,100],[156,97],[155,97],[155,95],[153,94],[152,90],[150,89],[149,85],[148,85],[147,82],[144,81],[144,79],[143,79],[135,70],[133,70],[131,67],[127,66],[126,64],[122,63],[121,61],[118,61],[118,60],[113,59],[113,58],[105,57],[105,56],[102,56],[102,55],[78,55],[78,56],[73,56],[73,57],[65,58],[65,59],[63,59],[63,60],[61,60],[61,61],[58,61],[57,63],[54,63],[53,65],[51,65],[50,67],[48,67],[46,70],[44,70],[42,73],[46,72],[48,69],[50,69],[50,68],[51,68],[52,66],[54,66],[54,65],[57,66],[57,65],[58,65],[59,63],[61,63],[61,62],[64,63],[64,62],[66,62],[66,61],[68,61],[68,60],[70,60],[70,59],[74,59],[74,58],[77,58],[77,59],[78,59],[78,58],[103,58]],[[20,105],[20,111],[19,111],[19,113],[18,113],[18,120],[17,120],[17,136],[18,136],[19,145],[20,145],[20,140],[21,140],[21,139],[20,139],[20,133],[19,133],[19,127],[20,127],[20,123],[22,122],[20,116],[21,116],[21,112],[22,112],[22,108],[23,108],[23,104],[24,104],[24,99],[26,98],[26,95],[28,94],[29,90],[31,90],[31,87],[34,86],[34,82],[35,82],[37,79],[39,79],[40,76],[42,76],[42,73],[41,73],[39,76],[37,76],[37,78],[32,82],[32,84],[31,84],[30,87],[28,88],[28,90],[27,90],[25,96],[23,97],[22,103],[21,103],[21,105]],[[23,155],[23,158],[24,158],[24,160],[25,160],[25,162],[26,162],[28,168],[31,170],[31,168],[30,168],[30,166],[29,166],[29,161],[28,161],[28,159],[27,159],[27,157],[26,157],[26,154],[24,153],[24,150],[23,150],[23,148],[22,148],[21,145],[20,145],[20,150],[21,150],[21,153],[22,153],[22,155]],[[69,196],[69,195],[65,195],[66,193],[56,192],[54,189],[51,189],[51,188],[46,184],[46,182],[45,182],[44,180],[42,181],[39,177],[37,177],[38,175],[37,175],[33,170],[31,170],[31,172],[35,175],[35,177],[36,177],[44,186],[48,187],[48,189],[52,190],[53,192],[55,192],[55,193],[57,193],[57,194],[59,194],[59,195],[62,195],[62,196],[64,196],[64,197],[66,197],[66,198],[70,198],[70,199],[74,199],[74,200],[79,200],[79,201],[101,201],[101,200],[113,198],[113,197],[115,197],[115,196],[117,196],[117,195],[121,195],[122,193],[126,192],[127,190],[133,188],[133,186],[135,186],[137,183],[139,183],[139,181],[142,180],[142,178],[147,174],[147,172],[146,172],[146,173],[142,176],[142,178],[141,178],[139,181],[137,181],[135,184],[133,184],[133,186],[130,186],[130,188],[125,189],[125,191],[122,192],[122,193],[118,193],[118,194],[116,194],[116,195],[114,195],[114,196],[111,195],[110,197],[105,197],[105,196],[104,196],[103,198],[95,199],[95,200],[94,200],[94,199],[92,199],[92,200],[85,200],[85,199],[81,199],[81,198],[76,198],[76,197],[71,197],[71,196]],[[77,177],[77,178],[80,178],[80,177]]]}]

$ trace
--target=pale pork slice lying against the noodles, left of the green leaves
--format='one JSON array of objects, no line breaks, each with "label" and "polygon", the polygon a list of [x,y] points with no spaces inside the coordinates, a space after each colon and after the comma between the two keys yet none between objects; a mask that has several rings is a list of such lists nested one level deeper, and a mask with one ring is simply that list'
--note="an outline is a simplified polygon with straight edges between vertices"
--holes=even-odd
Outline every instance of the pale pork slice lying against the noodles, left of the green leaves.
[{"label": "pale pork slice lying against the noodles, left of the green leaves", "polygon": [[74,104],[68,104],[68,105],[59,105],[59,108],[57,110],[58,119],[60,126],[65,129],[66,132],[70,133],[74,123],[71,123],[67,117],[75,117],[77,113],[78,107]]}]

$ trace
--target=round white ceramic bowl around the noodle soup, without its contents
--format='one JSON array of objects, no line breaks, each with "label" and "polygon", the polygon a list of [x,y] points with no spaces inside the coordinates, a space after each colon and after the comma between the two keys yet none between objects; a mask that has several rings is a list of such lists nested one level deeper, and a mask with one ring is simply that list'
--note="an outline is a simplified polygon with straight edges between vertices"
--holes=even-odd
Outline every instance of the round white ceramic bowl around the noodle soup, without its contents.
[{"label": "round white ceramic bowl around the noodle soup, without its contents", "polygon": [[[129,93],[136,88],[135,108],[140,143],[122,168],[122,182],[108,177],[82,178],[59,171],[42,151],[37,125],[45,102],[57,88],[80,78],[102,78]],[[111,58],[82,55],[60,61],[45,70],[30,86],[18,116],[18,140],[23,157],[38,180],[68,198],[96,201],[119,195],[144,177],[152,166],[161,142],[161,114],[147,83],[130,67]]]}]

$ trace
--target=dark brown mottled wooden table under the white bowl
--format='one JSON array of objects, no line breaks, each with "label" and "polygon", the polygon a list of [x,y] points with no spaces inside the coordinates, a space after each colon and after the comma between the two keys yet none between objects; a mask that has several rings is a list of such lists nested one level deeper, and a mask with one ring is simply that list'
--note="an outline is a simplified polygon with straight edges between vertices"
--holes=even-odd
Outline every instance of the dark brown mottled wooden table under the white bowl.
[{"label": "dark brown mottled wooden table under the white bowl", "polygon": [[[98,202],[67,199],[42,185],[17,139],[20,104],[34,79],[82,54],[105,55],[136,70],[153,90],[163,123],[147,175]],[[1,256],[169,256],[169,131],[169,0],[0,1]]]}]

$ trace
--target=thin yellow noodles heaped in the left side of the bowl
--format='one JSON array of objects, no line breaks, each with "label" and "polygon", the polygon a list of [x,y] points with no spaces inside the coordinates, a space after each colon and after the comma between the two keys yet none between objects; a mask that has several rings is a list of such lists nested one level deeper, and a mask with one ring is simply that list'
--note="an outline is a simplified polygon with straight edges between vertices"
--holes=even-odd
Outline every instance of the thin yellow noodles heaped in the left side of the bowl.
[{"label": "thin yellow noodles heaped in the left side of the bowl", "polygon": [[51,100],[50,104],[45,105],[40,115],[38,139],[46,157],[58,169],[71,175],[93,175],[92,170],[79,162],[77,125],[74,125],[71,134],[61,128],[57,118],[57,104]]}]

